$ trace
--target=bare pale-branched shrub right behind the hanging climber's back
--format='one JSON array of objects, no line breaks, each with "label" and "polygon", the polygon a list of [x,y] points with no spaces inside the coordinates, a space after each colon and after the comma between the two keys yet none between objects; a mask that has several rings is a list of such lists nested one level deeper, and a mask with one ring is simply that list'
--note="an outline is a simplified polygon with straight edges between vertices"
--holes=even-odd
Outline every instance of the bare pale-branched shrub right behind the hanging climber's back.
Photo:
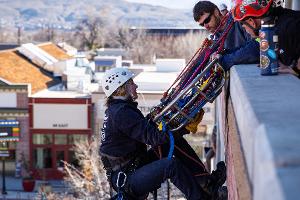
[{"label": "bare pale-branched shrub right behind the hanging climber's back", "polygon": [[69,183],[79,198],[107,199],[109,184],[98,154],[99,140],[92,139],[75,144],[75,156],[79,161],[79,168],[65,163],[65,180]]}]

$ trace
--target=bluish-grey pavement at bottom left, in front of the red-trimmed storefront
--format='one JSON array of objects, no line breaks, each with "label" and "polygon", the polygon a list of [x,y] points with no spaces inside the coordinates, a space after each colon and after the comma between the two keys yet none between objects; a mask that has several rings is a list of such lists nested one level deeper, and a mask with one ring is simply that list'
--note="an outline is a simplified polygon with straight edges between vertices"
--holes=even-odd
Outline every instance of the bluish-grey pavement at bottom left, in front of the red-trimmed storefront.
[{"label": "bluish-grey pavement at bottom left, in front of the red-trimmed storefront", "polygon": [[[24,192],[22,186],[21,178],[14,178],[12,176],[5,177],[6,182],[6,195],[2,194],[2,176],[0,176],[0,199],[9,199],[9,200],[31,200],[36,199],[38,195],[39,186],[44,183],[44,181],[36,180],[35,188],[33,192]],[[51,189],[55,193],[65,192],[67,190],[67,186],[64,184],[62,180],[49,180],[51,185]]]}]

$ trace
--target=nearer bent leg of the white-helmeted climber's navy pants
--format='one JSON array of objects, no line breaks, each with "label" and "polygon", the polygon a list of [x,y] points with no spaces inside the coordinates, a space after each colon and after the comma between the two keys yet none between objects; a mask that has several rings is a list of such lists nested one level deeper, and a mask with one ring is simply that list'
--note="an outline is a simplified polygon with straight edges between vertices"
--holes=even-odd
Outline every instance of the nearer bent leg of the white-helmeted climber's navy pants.
[{"label": "nearer bent leg of the white-helmeted climber's navy pants", "polygon": [[[117,177],[118,172],[114,172],[111,180],[115,190]],[[205,199],[195,177],[176,158],[156,160],[127,174],[127,187],[137,199],[145,199],[149,192],[158,189],[168,178],[188,200]]]}]

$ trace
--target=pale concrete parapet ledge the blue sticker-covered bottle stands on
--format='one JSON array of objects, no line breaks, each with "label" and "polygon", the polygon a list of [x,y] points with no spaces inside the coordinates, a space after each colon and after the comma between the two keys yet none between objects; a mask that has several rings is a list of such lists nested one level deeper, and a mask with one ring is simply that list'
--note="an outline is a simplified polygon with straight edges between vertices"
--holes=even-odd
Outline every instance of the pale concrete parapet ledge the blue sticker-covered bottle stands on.
[{"label": "pale concrete parapet ledge the blue sticker-covered bottle stands on", "polygon": [[252,198],[299,199],[299,79],[261,76],[256,65],[234,66],[230,98]]}]

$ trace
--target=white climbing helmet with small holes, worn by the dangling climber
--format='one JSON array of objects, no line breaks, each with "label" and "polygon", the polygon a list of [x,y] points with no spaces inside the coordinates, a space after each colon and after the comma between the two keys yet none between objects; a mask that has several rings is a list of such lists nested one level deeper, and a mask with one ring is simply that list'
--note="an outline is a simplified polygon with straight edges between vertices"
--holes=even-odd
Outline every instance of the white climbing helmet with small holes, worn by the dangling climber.
[{"label": "white climbing helmet with small holes, worn by the dangling climber", "polygon": [[106,97],[110,97],[114,91],[116,91],[133,76],[134,73],[123,67],[116,67],[106,71],[101,81],[102,89]]}]

